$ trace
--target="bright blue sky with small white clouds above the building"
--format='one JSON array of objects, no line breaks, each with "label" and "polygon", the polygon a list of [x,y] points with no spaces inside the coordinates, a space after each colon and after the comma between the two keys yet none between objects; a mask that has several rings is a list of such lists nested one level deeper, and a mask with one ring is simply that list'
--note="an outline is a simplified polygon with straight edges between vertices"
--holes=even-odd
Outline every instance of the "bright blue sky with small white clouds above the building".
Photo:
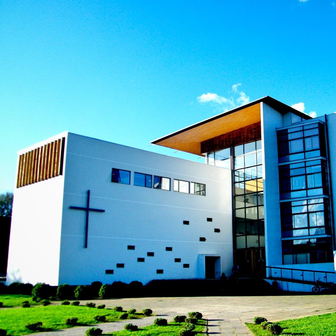
[{"label": "bright blue sky with small white clouds above the building", "polygon": [[336,0],[2,1],[0,193],[62,131],[150,141],[269,95],[336,111]]}]

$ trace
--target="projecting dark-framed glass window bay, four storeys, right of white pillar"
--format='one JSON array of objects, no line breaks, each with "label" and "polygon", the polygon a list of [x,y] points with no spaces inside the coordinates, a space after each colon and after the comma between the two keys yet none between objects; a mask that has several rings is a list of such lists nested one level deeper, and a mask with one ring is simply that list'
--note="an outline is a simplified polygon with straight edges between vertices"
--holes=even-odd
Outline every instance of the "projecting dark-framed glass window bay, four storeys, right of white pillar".
[{"label": "projecting dark-framed glass window bay, four storeys, right of white pillar", "polygon": [[324,125],[292,127],[277,135],[283,263],[329,262],[332,239]]}]

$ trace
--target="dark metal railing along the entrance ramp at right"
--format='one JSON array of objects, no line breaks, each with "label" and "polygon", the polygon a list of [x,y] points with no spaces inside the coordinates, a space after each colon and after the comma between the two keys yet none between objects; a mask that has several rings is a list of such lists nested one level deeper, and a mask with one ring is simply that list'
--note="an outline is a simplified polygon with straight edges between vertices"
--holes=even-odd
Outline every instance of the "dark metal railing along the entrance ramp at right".
[{"label": "dark metal railing along the entrance ramp at right", "polygon": [[319,279],[323,282],[332,281],[336,283],[336,272],[328,271],[266,266],[266,275],[269,279],[290,279],[303,283],[313,283]]}]

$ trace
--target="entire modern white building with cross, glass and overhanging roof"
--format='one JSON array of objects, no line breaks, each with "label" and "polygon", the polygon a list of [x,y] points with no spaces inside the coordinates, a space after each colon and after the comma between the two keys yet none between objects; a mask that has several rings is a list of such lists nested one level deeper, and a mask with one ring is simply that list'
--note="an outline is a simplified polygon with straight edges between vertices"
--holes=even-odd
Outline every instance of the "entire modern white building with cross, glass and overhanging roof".
[{"label": "entire modern white building with cross, glass and overhanging roof", "polygon": [[152,141],[206,164],[68,132],[20,151],[7,281],[327,277],[335,128],[266,96]]}]

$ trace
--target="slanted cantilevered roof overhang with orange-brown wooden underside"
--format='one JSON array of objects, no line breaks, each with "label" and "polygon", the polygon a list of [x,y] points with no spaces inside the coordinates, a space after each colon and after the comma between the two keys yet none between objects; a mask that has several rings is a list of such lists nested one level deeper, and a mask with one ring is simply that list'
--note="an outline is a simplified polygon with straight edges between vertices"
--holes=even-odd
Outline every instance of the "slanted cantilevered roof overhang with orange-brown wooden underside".
[{"label": "slanted cantilevered roof overhang with orange-brown wooden underside", "polygon": [[265,102],[268,106],[279,111],[281,114],[292,112],[304,119],[310,119],[306,114],[291,108],[279,100],[266,96],[239,108],[182,128],[162,138],[153,140],[151,143],[186,153],[203,155],[203,153],[201,153],[202,141],[260,122],[261,102]]}]

